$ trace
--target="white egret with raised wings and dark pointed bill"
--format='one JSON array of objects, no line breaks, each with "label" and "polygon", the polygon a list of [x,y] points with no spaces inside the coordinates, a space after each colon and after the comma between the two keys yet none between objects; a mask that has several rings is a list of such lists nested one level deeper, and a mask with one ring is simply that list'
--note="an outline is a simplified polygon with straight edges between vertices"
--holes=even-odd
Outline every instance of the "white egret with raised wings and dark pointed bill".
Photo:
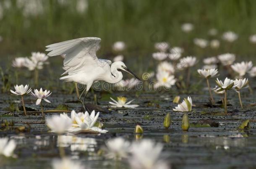
[{"label": "white egret with raised wings and dark pointed bill", "polygon": [[[46,51],[50,51],[48,56],[65,55],[63,61],[65,72],[62,75],[67,75],[61,77],[60,80],[86,85],[86,88],[78,97],[85,111],[89,110],[86,108],[84,100],[95,81],[102,80],[108,83],[118,83],[123,78],[120,70],[131,73],[134,77],[138,78],[122,61],[112,63],[109,60],[98,59],[96,51],[100,41],[100,38],[87,37],[46,46]],[[84,99],[81,100],[81,96],[84,93]]]}]

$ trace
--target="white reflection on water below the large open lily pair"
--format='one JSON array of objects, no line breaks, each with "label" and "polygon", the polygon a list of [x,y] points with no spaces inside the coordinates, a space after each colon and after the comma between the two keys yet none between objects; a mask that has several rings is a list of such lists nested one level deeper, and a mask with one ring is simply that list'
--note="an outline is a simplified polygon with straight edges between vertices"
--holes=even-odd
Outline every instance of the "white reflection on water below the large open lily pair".
[{"label": "white reflection on water below the large open lily pair", "polygon": [[57,146],[69,147],[71,151],[89,151],[94,152],[97,141],[94,138],[83,138],[71,135],[61,135],[57,137]]}]

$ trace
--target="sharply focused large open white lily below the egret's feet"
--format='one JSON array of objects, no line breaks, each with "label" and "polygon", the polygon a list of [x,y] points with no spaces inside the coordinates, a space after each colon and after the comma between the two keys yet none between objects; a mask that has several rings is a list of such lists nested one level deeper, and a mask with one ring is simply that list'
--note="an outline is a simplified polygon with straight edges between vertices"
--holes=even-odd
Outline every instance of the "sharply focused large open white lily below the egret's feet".
[{"label": "sharply focused large open white lily below the egret's feet", "polygon": [[69,132],[71,133],[79,133],[79,132],[96,132],[96,133],[106,133],[107,130],[102,130],[99,127],[94,127],[94,124],[96,123],[99,112],[95,116],[95,111],[93,110],[91,114],[86,111],[84,113],[85,118],[81,119],[79,116],[75,116],[76,123],[73,123],[71,129],[69,129]]}]

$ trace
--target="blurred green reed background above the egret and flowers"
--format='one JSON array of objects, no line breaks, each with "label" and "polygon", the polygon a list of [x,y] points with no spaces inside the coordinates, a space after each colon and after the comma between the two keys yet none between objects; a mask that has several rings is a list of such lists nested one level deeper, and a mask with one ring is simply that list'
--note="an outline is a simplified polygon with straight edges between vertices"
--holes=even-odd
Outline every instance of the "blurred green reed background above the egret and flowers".
[{"label": "blurred green reed background above the egret and flowers", "polygon": [[[99,55],[111,55],[112,43],[122,40],[131,58],[147,58],[154,43],[167,41],[198,57],[232,52],[255,58],[248,37],[256,33],[255,0],[0,0],[0,57],[30,55],[45,45],[80,37],[102,38]],[[194,30],[183,33],[183,23]],[[216,28],[215,37],[208,35]],[[221,39],[232,30],[232,45]],[[200,49],[194,38],[219,39],[220,48]],[[150,56],[151,57],[151,56]]]}]

